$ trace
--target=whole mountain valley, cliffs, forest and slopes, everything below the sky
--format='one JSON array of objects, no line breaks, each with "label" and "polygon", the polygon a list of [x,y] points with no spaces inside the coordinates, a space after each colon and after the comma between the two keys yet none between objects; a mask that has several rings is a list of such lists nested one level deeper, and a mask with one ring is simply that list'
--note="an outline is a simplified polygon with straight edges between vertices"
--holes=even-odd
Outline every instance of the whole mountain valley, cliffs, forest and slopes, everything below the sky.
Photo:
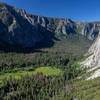
[{"label": "whole mountain valley, cliffs, forest and slopes, everything below the sky", "polygon": [[99,41],[99,21],[0,2],[0,100],[100,100]]}]

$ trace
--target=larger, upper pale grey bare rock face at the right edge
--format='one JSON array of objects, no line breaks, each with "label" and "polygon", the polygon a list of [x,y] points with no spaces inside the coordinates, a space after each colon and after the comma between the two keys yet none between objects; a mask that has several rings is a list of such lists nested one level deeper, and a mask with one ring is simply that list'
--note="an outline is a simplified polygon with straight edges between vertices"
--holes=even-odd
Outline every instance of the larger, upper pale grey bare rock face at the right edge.
[{"label": "larger, upper pale grey bare rock face at the right edge", "polygon": [[90,47],[88,54],[89,56],[82,64],[85,67],[96,67],[100,66],[100,32],[96,41]]}]

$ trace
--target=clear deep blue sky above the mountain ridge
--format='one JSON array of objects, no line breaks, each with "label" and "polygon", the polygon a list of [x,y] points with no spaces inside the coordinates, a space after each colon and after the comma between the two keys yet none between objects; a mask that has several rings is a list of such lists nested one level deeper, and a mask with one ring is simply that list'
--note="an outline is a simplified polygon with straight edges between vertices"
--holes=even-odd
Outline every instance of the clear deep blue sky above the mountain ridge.
[{"label": "clear deep blue sky above the mountain ridge", "polygon": [[73,21],[100,21],[100,0],[0,0],[26,12]]}]

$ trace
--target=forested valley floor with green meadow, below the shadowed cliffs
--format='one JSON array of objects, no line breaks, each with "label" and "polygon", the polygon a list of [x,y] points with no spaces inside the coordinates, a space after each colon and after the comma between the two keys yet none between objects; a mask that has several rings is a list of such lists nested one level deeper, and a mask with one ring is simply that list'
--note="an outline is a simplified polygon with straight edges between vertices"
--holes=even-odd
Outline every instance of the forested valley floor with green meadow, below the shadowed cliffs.
[{"label": "forested valley floor with green meadow, below the shadowed cliffs", "polygon": [[76,79],[85,73],[76,63],[91,44],[85,40],[75,35],[40,52],[0,52],[0,100],[98,100],[99,78]]}]

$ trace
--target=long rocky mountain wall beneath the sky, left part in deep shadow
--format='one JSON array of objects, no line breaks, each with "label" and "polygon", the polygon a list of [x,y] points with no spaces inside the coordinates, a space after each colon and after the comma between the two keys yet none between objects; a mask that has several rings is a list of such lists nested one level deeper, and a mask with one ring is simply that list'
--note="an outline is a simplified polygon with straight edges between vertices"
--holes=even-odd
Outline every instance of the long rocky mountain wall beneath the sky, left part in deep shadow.
[{"label": "long rocky mountain wall beneath the sky, left part in deep shadow", "polygon": [[25,10],[0,3],[0,44],[34,47],[41,41],[52,41],[55,34],[82,34],[93,40],[99,29],[100,23],[31,15]]}]

